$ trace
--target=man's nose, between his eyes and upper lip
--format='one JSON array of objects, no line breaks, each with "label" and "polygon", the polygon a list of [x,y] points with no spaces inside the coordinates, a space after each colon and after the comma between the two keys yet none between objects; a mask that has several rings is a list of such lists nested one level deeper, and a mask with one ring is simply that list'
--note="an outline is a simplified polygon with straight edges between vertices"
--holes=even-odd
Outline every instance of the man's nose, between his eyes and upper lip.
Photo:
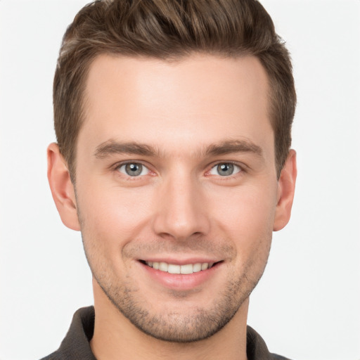
[{"label": "man's nose, between his eyes and upper lip", "polygon": [[162,184],[155,205],[153,229],[162,238],[188,240],[207,235],[210,219],[201,185],[191,176],[173,176]]}]

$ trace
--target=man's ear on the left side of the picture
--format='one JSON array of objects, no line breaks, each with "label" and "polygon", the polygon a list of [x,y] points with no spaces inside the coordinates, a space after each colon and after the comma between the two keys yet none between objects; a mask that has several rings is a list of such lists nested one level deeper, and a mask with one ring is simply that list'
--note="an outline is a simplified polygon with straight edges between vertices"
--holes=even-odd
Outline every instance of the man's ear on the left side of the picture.
[{"label": "man's ear on the left side of the picture", "polygon": [[74,186],[58,144],[51,143],[47,155],[49,185],[61,221],[72,230],[80,230]]}]

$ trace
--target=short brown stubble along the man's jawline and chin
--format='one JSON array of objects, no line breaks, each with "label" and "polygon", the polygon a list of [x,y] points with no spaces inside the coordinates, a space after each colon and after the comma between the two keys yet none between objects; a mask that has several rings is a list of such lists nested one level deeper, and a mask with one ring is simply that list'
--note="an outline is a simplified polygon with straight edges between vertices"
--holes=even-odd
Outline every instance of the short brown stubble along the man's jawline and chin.
[{"label": "short brown stubble along the man's jawline and chin", "polygon": [[[95,280],[117,310],[143,333],[158,340],[178,343],[204,340],[224,328],[257,285],[269,255],[267,252],[263,268],[258,270],[253,278],[249,278],[248,274],[252,274],[250,268],[254,264],[248,264],[238,278],[236,274],[231,274],[229,278],[235,278],[236,281],[228,281],[224,289],[214,295],[214,300],[207,309],[195,307],[186,312],[167,309],[158,314],[146,303],[139,288],[126,281],[119,283],[116,276],[109,275],[110,266],[94,264],[94,258],[89,255],[96,252],[94,249],[92,252],[88,251],[84,238],[83,243]],[[174,293],[174,300],[179,301],[181,296],[186,300],[185,293]]]}]

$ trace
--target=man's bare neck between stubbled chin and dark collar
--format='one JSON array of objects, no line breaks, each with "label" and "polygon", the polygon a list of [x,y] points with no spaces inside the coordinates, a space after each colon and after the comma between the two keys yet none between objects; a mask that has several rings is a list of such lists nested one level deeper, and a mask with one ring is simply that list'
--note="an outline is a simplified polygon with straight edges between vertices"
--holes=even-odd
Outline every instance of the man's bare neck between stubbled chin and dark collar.
[{"label": "man's bare neck between stubbled chin and dark collar", "polygon": [[136,328],[94,281],[95,327],[90,346],[98,360],[246,360],[248,300],[216,334],[198,342],[167,342]]}]

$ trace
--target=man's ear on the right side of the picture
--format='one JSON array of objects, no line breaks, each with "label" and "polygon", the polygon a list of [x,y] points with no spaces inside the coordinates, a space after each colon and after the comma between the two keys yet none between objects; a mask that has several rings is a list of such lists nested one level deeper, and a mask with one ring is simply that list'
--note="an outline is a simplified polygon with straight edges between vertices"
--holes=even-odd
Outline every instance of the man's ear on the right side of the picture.
[{"label": "man's ear on the right side of the picture", "polygon": [[274,231],[283,229],[290,220],[297,175],[296,153],[291,149],[278,179],[278,198],[275,210]]}]

